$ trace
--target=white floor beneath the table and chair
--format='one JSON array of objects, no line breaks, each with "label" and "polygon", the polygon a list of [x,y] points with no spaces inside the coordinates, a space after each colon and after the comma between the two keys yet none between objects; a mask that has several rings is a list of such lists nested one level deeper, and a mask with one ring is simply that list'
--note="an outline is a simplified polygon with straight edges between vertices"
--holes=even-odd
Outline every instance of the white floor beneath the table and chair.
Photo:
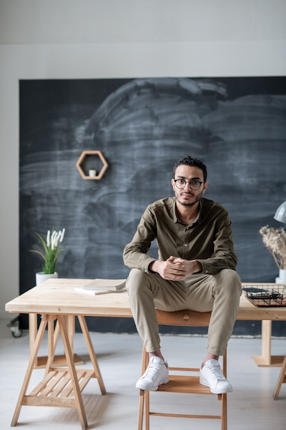
[{"label": "white floor beneath the table and chair", "polygon": [[[12,337],[9,320],[0,319],[0,428],[10,429],[10,422],[19,396],[29,356],[28,332],[19,338]],[[102,371],[107,394],[102,396],[96,379],[92,379],[83,391],[88,429],[136,430],[139,392],[134,387],[141,372],[141,341],[138,335],[117,335],[91,333],[97,359]],[[77,333],[74,341],[75,352],[88,362],[86,346],[82,335]],[[206,338],[186,336],[163,336],[162,349],[169,365],[199,366],[206,348]],[[252,354],[261,353],[261,339],[232,338],[228,344],[228,379],[234,392],[228,395],[228,430],[285,430],[286,429],[286,384],[281,387],[278,400],[272,393],[278,378],[279,367],[258,367]],[[272,354],[286,353],[286,339],[272,340]],[[46,350],[40,351],[45,355]],[[62,354],[59,345],[58,354]],[[179,360],[179,363],[178,363]],[[31,387],[40,382],[43,370],[32,373]],[[167,404],[167,409],[195,406],[195,396],[178,394],[154,394],[156,402]],[[204,396],[200,401],[206,407],[210,399],[219,404],[215,396]],[[191,400],[190,400],[191,399]],[[187,411],[187,413],[189,410]],[[151,430],[219,430],[219,421],[190,420],[184,418],[159,418],[151,420]],[[25,430],[81,430],[75,409],[23,406],[16,427]]]}]

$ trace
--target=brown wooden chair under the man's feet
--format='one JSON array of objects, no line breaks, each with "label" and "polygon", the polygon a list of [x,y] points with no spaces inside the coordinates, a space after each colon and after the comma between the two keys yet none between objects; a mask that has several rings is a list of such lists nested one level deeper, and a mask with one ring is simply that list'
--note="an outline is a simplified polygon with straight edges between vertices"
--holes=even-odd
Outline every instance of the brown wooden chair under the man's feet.
[{"label": "brown wooden chair under the man's feet", "polygon": [[[179,310],[176,312],[165,312],[163,310],[156,310],[158,324],[169,326],[208,326],[211,318],[211,313],[199,313],[191,310]],[[143,346],[142,356],[142,374],[145,372],[148,365],[148,353]],[[200,376],[198,372],[200,369],[193,369],[189,367],[169,367],[169,370],[176,371],[177,374],[169,374],[169,383],[159,385],[156,392],[169,392],[169,393],[184,393],[184,394],[212,394],[210,389],[200,384]],[[226,352],[223,357],[222,370],[226,376]],[[178,374],[178,371],[181,374]],[[184,374],[182,374],[182,372]],[[197,375],[186,376],[187,372],[197,372]],[[227,398],[226,394],[212,394],[217,396],[218,400],[222,401],[221,412],[219,415],[198,415],[198,414],[175,414],[165,413],[159,411],[150,411],[150,392],[143,389],[140,390],[139,397],[139,423],[138,430],[142,430],[143,416],[145,415],[145,429],[150,430],[150,416],[165,416],[175,418],[204,418],[211,420],[221,420],[222,430],[227,430]],[[174,403],[171,406],[174,406]],[[145,414],[144,414],[145,409]]]}]

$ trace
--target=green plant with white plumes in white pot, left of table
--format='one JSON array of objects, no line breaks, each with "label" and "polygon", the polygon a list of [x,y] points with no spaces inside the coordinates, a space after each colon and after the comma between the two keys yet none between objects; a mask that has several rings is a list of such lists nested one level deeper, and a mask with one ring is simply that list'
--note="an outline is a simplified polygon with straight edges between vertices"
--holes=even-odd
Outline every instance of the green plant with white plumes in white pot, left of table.
[{"label": "green plant with white plumes in white pot, left of table", "polygon": [[43,271],[36,273],[36,285],[42,284],[48,278],[58,278],[56,268],[58,255],[62,251],[60,244],[64,239],[64,231],[65,229],[61,231],[48,230],[46,239],[36,233],[40,245],[30,251],[38,254],[44,260]]}]

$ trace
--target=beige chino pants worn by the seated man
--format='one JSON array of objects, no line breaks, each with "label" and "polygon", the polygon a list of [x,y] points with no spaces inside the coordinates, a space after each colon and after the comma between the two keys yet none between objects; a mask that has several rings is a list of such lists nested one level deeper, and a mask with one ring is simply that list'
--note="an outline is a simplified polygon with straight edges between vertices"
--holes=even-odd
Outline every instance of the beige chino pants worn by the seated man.
[{"label": "beige chino pants worn by the seated man", "polygon": [[155,308],[160,310],[212,311],[207,351],[223,355],[239,310],[241,279],[236,271],[222,269],[215,275],[195,273],[183,282],[167,281],[158,273],[132,269],[126,282],[130,308],[147,352],[160,350]]}]

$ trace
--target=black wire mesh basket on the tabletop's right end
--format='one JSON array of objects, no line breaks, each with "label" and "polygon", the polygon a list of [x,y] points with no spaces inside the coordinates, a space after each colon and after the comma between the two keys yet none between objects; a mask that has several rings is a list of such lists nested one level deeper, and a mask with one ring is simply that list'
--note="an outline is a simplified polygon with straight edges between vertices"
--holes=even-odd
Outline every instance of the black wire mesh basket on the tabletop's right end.
[{"label": "black wire mesh basket on the tabletop's right end", "polygon": [[286,284],[245,286],[246,298],[259,307],[286,306]]}]

